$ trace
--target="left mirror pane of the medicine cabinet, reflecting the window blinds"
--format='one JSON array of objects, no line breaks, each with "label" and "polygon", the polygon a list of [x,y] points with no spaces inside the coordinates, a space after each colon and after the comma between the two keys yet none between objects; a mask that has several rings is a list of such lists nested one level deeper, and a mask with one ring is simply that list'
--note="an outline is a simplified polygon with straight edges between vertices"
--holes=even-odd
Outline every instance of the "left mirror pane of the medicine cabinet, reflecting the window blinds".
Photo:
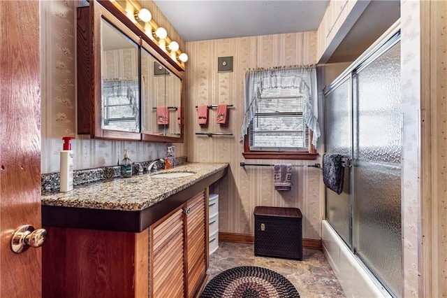
[{"label": "left mirror pane of the medicine cabinet, reflecting the window blinds", "polygon": [[101,128],[140,132],[139,46],[101,19]]}]

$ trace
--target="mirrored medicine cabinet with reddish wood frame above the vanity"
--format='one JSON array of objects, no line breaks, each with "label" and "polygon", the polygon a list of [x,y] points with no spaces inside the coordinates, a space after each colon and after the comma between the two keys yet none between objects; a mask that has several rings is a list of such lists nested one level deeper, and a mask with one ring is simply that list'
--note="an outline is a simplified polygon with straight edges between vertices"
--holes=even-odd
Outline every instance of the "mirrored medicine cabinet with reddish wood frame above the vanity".
[{"label": "mirrored medicine cabinet with reddish wood frame above the vanity", "polygon": [[78,8],[78,134],[182,142],[183,73],[108,2]]}]

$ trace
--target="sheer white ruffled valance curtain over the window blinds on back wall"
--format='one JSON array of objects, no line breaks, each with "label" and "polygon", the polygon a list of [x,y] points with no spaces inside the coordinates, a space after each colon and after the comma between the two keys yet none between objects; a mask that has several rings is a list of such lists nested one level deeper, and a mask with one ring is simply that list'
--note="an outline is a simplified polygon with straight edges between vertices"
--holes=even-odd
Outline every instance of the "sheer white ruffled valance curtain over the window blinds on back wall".
[{"label": "sheer white ruffled valance curtain over the window blinds on back wall", "polygon": [[312,144],[320,136],[318,125],[318,93],[316,87],[316,66],[287,66],[274,69],[254,69],[246,71],[244,77],[244,121],[242,139],[256,114],[258,103],[264,90],[294,88],[304,99],[303,116],[305,124],[314,132]]}]

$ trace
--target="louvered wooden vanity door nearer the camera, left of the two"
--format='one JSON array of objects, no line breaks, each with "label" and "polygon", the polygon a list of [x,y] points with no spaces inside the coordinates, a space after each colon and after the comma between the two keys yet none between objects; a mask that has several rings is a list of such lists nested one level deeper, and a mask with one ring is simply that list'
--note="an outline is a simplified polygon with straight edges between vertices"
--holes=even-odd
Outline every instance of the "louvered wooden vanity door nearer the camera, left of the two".
[{"label": "louvered wooden vanity door nearer the camera, left of the two", "polygon": [[177,209],[151,227],[150,297],[184,297],[184,214]]}]

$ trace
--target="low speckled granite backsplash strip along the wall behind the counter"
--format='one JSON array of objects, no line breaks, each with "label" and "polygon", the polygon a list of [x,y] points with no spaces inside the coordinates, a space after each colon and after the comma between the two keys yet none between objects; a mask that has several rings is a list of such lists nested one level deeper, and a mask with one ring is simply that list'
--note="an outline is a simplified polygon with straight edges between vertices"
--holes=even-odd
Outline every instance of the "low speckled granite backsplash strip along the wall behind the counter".
[{"label": "low speckled granite backsplash strip along the wall behind the counter", "polygon": [[[138,162],[143,168],[147,168],[152,161]],[[175,157],[175,164],[181,166],[186,164],[186,156]],[[133,175],[138,172],[133,166]],[[73,171],[73,185],[82,185],[85,183],[96,182],[99,180],[107,180],[112,178],[118,178],[121,176],[121,167],[116,166],[103,166],[94,169],[82,169]],[[41,191],[42,192],[52,192],[59,190],[60,185],[60,173],[43,173],[41,175]]]}]

